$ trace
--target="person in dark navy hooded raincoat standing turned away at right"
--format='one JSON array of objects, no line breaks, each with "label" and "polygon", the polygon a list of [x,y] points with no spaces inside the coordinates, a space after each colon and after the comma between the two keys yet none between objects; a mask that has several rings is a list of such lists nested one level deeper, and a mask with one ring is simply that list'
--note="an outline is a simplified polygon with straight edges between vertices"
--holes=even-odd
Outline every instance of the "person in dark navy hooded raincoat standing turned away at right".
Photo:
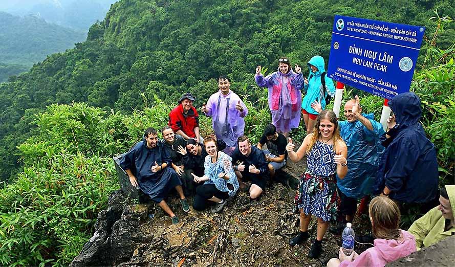
[{"label": "person in dark navy hooded raincoat standing turned away at right", "polygon": [[422,115],[419,97],[407,92],[388,102],[395,115],[389,118],[385,146],[375,191],[403,204],[419,203],[426,212],[436,206],[438,162],[435,145],[426,138],[419,122]]}]

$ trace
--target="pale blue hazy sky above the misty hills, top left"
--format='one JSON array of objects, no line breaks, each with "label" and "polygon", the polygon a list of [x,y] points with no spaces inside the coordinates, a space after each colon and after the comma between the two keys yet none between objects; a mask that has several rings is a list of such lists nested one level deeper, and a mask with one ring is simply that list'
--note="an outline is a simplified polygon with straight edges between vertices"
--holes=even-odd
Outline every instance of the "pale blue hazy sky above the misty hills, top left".
[{"label": "pale blue hazy sky above the misty hills, top left", "polygon": [[8,0],[0,11],[14,15],[34,15],[49,23],[86,32],[102,20],[117,0]]}]

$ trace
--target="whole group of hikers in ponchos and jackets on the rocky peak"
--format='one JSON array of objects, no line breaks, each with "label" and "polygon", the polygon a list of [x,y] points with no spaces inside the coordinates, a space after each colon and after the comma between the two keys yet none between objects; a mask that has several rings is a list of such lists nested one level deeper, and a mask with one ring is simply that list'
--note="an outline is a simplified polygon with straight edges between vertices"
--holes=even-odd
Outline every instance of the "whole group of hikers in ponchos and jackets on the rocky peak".
[{"label": "whole group of hikers in ponchos and jackets on the rocky peak", "polygon": [[[294,72],[286,57],[279,58],[278,64],[278,70],[266,77],[261,66],[256,68],[255,81],[268,88],[272,115],[258,144],[244,135],[248,108],[230,90],[229,77],[223,75],[218,79],[218,92],[200,109],[212,118],[214,135],[200,136],[199,114],[192,105],[196,97],[184,94],[169,113],[168,126],[161,129],[163,139],[158,139],[156,129],[148,128],[143,141],[121,159],[131,184],[139,186],[178,224],[179,218],[164,200],[169,190],[177,190],[185,212],[190,209],[187,195],[194,196],[194,210],[211,205],[213,212],[221,212],[237,191],[249,192],[254,201],[286,161],[306,158],[307,169],[294,198],[300,229],[289,244],[295,246],[310,238],[310,219],[316,216],[310,258],[322,253],[329,223],[333,224],[329,230],[339,235],[353,221],[359,199],[369,196],[376,196],[369,205],[372,233],[356,239],[374,243],[374,247],[350,256],[340,249],[339,259],[328,265],[383,266],[455,233],[455,186],[445,186],[441,193],[438,189],[436,149],[419,123],[422,110],[415,93],[389,101],[393,115],[384,132],[373,114],[362,113],[357,96],[344,104],[345,121],[324,109],[327,97],[335,95],[335,87],[321,56],[309,60],[308,78],[298,65]],[[301,116],[307,135],[297,148],[288,135],[298,127]],[[400,213],[416,204],[428,213],[408,231],[400,230]]]}]

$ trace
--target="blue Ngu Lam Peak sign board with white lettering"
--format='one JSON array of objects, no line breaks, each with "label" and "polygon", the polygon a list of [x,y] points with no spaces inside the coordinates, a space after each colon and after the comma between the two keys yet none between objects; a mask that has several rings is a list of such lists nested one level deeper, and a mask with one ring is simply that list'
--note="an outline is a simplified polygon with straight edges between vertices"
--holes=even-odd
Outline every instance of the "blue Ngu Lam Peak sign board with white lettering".
[{"label": "blue Ngu Lam Peak sign board with white lettering", "polygon": [[392,99],[409,91],[424,27],[335,16],[330,78]]}]

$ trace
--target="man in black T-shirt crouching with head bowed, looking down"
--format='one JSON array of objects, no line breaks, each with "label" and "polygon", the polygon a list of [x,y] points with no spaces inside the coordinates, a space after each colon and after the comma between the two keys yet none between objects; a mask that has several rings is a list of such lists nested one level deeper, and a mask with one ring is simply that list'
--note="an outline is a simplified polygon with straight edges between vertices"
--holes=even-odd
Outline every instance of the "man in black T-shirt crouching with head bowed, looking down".
[{"label": "man in black T-shirt crouching with head bowed, looking down", "polygon": [[276,131],[275,125],[269,124],[265,128],[261,140],[257,144],[257,148],[262,149],[266,143],[267,149],[264,150],[264,154],[266,155],[266,161],[269,162],[270,177],[273,179],[275,171],[286,166],[286,159],[288,157],[286,145],[288,141],[283,134]]}]

